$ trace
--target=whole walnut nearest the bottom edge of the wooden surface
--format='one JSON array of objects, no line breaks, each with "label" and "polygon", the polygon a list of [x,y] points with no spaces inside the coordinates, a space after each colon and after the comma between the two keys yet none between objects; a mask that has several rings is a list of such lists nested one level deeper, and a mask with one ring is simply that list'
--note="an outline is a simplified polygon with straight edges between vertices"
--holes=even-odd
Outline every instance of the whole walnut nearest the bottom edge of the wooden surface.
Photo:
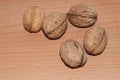
[{"label": "whole walnut nearest the bottom edge of the wooden surface", "polygon": [[59,52],[63,62],[71,68],[83,66],[87,61],[84,49],[77,41],[72,39],[63,42]]}]

